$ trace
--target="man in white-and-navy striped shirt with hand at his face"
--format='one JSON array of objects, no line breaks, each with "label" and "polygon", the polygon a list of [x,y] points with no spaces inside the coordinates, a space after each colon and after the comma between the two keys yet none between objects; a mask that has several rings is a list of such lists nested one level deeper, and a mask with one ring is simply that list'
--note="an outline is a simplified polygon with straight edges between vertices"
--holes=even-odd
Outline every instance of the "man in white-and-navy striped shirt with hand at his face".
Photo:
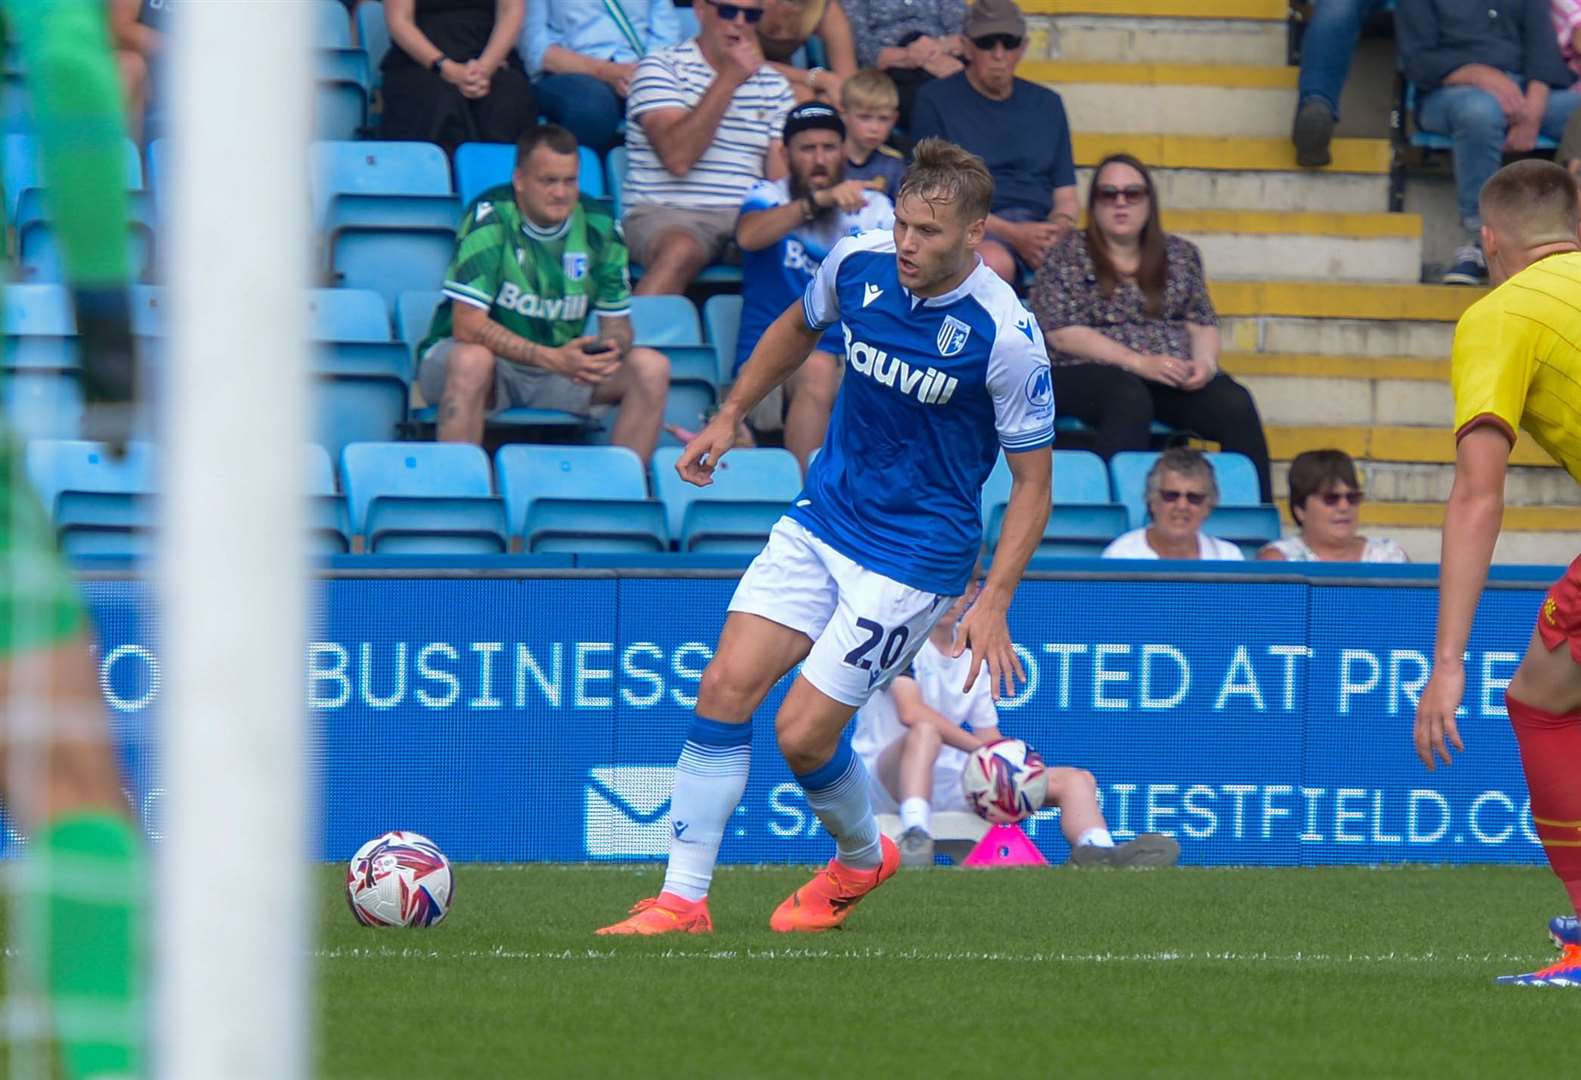
[{"label": "man in white-and-navy striped shirt with hand at his face", "polygon": [[762,0],[699,0],[699,33],[643,57],[626,96],[626,242],[636,293],[683,293],[724,255],[741,199],[786,174],[790,84],[764,62]]}]

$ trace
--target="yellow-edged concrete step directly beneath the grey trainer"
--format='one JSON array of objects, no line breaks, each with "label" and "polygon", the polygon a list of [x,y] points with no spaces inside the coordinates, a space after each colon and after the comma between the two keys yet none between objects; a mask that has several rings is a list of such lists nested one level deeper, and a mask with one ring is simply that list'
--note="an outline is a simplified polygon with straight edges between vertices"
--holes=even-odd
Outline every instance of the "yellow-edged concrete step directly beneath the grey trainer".
[{"label": "yellow-edged concrete step directly beneath the grey trainer", "polygon": [[[1209,267],[1211,270],[1211,267]],[[1225,351],[1445,359],[1486,289],[1450,285],[1209,281]]]}]

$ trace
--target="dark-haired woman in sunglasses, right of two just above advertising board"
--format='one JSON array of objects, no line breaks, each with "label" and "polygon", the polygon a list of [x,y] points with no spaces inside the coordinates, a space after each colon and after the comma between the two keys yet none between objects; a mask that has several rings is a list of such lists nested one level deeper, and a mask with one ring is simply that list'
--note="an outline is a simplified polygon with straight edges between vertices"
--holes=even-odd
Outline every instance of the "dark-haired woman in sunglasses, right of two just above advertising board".
[{"label": "dark-haired woman in sunglasses, right of two just above advertising board", "polygon": [[1391,539],[1356,531],[1361,514],[1356,463],[1344,451],[1304,451],[1290,462],[1290,517],[1300,533],[1257,552],[1262,560],[1292,563],[1409,563]]}]

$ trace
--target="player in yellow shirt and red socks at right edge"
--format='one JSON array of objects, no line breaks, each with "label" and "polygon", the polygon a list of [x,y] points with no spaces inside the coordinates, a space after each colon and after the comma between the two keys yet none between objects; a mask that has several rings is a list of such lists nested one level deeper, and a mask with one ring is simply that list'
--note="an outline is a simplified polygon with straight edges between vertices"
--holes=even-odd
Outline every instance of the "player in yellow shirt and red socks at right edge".
[{"label": "player in yellow shirt and red socks at right edge", "polygon": [[[1481,191],[1494,289],[1455,327],[1455,485],[1443,514],[1432,677],[1417,705],[1417,754],[1431,770],[1464,750],[1455,723],[1462,655],[1504,523],[1510,452],[1524,430],[1581,481],[1581,199],[1551,161],[1518,161]],[[1568,648],[1560,648],[1568,645]],[[1505,693],[1554,873],[1581,909],[1581,558],[1549,590]],[[1559,963],[1500,982],[1581,985],[1581,944]]]}]

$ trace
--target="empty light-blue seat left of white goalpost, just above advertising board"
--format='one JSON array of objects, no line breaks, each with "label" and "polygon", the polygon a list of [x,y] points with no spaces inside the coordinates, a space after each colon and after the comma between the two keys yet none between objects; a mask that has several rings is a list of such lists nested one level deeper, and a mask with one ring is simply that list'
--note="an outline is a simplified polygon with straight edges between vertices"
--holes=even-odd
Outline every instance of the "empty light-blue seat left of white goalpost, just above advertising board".
[{"label": "empty light-blue seat left of white goalpost, just above advertising board", "polygon": [[36,440],[24,452],[27,478],[49,509],[68,555],[139,557],[155,525],[157,457],[150,443],[131,443],[122,460],[103,444]]}]

